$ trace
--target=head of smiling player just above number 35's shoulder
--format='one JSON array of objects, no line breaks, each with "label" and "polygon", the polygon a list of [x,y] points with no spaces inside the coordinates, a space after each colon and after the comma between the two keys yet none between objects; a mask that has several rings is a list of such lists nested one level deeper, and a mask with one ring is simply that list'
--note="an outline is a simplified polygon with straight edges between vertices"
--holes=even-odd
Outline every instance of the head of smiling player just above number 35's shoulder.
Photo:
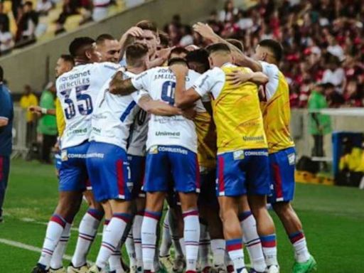
[{"label": "head of smiling player just above number 35's shoulder", "polygon": [[120,49],[119,41],[109,34],[101,34],[96,38],[96,50],[101,54],[102,62],[118,63]]}]

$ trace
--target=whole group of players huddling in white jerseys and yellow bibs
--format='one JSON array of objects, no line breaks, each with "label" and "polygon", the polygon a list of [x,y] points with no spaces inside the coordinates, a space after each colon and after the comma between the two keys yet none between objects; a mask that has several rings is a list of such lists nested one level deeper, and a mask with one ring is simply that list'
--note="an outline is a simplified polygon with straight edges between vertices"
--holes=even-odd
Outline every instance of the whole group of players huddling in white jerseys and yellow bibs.
[{"label": "whole group of players huddling in white jerseys and yellow bibs", "polygon": [[[260,41],[249,58],[239,41],[204,23],[193,28],[206,48],[168,48],[165,34],[141,21],[120,41],[75,38],[70,55],[59,58],[60,195],[33,273],[279,272],[267,200],[293,246],[292,272],[316,270],[290,205],[295,151],[289,87],[277,68],[282,46]],[[65,269],[82,196],[90,208]],[[90,267],[87,253],[104,215]]]}]

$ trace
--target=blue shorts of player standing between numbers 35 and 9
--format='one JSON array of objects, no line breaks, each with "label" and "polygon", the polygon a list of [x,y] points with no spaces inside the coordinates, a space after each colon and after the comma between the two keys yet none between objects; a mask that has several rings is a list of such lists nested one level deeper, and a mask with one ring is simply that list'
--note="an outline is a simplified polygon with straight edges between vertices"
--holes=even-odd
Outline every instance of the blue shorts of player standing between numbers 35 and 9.
[{"label": "blue shorts of player standing between numbers 35 and 9", "polygon": [[127,153],[113,144],[90,142],[87,171],[97,202],[110,199],[132,200],[133,184]]}]

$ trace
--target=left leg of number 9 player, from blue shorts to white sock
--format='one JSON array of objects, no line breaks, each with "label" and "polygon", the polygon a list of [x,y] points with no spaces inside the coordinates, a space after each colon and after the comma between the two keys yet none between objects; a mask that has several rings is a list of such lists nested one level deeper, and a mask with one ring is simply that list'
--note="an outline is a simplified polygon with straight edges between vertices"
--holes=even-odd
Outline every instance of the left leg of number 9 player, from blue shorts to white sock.
[{"label": "left leg of number 9 player, from blue shorts to white sock", "polygon": [[141,247],[144,272],[154,272],[156,256],[156,230],[161,218],[164,198],[168,190],[171,167],[165,151],[150,149],[146,156],[144,191],[146,191],[146,207],[141,225]]}]

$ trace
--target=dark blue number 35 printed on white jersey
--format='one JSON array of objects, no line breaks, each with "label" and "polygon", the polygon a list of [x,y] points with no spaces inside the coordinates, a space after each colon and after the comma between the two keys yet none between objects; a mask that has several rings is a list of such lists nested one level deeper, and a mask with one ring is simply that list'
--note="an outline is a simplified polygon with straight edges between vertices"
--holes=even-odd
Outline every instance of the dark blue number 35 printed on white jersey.
[{"label": "dark blue number 35 printed on white jersey", "polygon": [[[87,116],[92,113],[92,100],[91,96],[87,95],[85,92],[90,85],[81,85],[77,86],[76,89],[76,100],[77,100],[77,109],[82,116]],[[75,103],[70,99],[70,90],[65,90],[65,103],[68,105],[65,108],[65,117],[66,119],[72,119],[76,115]]]}]

